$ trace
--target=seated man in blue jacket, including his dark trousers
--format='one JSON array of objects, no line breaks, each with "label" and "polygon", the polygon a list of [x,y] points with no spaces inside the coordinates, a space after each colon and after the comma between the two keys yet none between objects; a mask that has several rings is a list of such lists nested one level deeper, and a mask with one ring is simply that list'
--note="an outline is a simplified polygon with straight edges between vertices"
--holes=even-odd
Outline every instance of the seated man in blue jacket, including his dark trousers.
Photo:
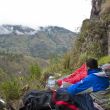
[{"label": "seated man in blue jacket, including his dark trousers", "polygon": [[96,110],[88,93],[105,90],[109,86],[109,78],[100,76],[102,70],[98,68],[97,60],[90,58],[86,61],[86,65],[87,76],[64,89],[73,97],[81,110]]}]

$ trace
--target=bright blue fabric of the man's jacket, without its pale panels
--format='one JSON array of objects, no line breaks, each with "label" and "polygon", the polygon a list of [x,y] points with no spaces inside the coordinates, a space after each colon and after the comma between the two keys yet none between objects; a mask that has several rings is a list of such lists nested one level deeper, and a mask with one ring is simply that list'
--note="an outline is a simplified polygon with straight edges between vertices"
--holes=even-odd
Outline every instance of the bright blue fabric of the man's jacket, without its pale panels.
[{"label": "bright blue fabric of the man's jacket, without its pale panels", "polygon": [[93,73],[100,72],[100,69],[88,70],[88,76],[80,82],[67,87],[67,92],[71,95],[76,95],[89,88],[93,89],[93,92],[105,90],[109,87],[109,78],[96,76]]}]

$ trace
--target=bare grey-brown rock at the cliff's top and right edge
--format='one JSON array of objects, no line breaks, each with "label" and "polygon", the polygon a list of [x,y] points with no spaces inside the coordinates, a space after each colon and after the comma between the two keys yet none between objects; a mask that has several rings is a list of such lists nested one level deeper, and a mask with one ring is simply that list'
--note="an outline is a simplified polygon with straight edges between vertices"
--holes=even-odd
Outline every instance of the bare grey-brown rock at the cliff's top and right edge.
[{"label": "bare grey-brown rock at the cliff's top and right edge", "polygon": [[105,29],[105,36],[102,36],[101,42],[105,42],[104,53],[110,55],[110,0],[92,0],[90,20],[100,22],[101,28]]}]

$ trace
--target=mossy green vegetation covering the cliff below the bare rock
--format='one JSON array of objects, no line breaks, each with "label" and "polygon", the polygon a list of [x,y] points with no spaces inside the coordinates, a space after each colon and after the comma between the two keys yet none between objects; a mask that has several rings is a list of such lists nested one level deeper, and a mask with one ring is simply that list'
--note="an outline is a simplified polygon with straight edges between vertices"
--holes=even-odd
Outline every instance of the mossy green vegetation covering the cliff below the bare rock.
[{"label": "mossy green vegetation covering the cliff below the bare rock", "polygon": [[81,32],[75,41],[73,48],[73,64],[81,65],[88,57],[100,58],[107,54],[105,43],[107,44],[107,33],[105,25],[99,20],[83,21]]}]

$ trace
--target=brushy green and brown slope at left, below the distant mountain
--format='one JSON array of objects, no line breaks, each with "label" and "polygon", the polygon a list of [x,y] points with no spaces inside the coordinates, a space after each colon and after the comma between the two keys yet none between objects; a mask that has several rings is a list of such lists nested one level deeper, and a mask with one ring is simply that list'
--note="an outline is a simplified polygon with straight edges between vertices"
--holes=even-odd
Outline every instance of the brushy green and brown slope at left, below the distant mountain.
[{"label": "brushy green and brown slope at left, below the distant mountain", "polygon": [[30,89],[43,88],[41,68],[35,58],[1,52],[0,66],[0,96],[6,100],[18,99],[26,91],[22,91],[25,85]]}]

